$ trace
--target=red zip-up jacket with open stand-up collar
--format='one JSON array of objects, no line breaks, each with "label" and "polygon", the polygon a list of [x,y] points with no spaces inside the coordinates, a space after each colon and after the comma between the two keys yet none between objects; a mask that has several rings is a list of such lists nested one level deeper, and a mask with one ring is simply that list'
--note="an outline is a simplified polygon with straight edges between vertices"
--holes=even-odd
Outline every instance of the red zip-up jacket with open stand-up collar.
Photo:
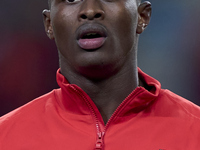
[{"label": "red zip-up jacket with open stand-up collar", "polygon": [[199,150],[200,108],[139,69],[136,88],[107,125],[89,96],[68,84],[0,118],[0,150]]}]

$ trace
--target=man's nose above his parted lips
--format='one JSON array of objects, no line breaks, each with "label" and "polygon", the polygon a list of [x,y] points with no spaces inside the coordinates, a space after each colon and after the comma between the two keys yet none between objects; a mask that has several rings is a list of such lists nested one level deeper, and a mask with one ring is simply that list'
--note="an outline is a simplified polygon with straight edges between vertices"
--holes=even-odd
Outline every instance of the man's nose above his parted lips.
[{"label": "man's nose above his parted lips", "polygon": [[79,12],[79,20],[102,20],[105,12],[99,0],[84,0]]}]

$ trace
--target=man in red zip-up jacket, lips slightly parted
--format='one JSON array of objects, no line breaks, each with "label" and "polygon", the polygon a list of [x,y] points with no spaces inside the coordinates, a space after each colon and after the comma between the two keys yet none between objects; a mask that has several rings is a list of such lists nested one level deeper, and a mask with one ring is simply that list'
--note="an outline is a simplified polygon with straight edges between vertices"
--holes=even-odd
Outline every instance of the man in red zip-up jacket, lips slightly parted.
[{"label": "man in red zip-up jacket, lips slightly parted", "polygon": [[137,68],[151,4],[52,0],[45,30],[60,89],[0,119],[0,149],[196,150],[200,108]]}]

